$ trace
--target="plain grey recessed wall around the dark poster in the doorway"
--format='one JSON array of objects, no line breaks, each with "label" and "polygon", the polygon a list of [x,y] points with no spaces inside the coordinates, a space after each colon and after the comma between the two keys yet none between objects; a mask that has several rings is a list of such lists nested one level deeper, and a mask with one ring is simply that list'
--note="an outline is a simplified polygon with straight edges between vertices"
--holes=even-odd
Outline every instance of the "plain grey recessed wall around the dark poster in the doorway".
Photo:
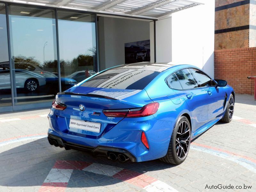
[{"label": "plain grey recessed wall around the dark poster in the doorway", "polygon": [[124,44],[150,39],[149,25],[149,21],[99,17],[100,70],[124,64]]}]

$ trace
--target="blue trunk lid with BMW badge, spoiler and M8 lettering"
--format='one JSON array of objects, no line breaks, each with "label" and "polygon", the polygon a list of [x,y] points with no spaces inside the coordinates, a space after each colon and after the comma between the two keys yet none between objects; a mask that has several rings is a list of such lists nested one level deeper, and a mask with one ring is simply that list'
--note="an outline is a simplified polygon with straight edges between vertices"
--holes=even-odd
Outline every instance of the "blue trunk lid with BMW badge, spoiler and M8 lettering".
[{"label": "blue trunk lid with BMW badge, spoiler and M8 lettering", "polygon": [[[55,110],[62,132],[90,138],[99,138],[123,119],[123,117],[107,117],[103,114],[103,109],[140,108],[152,102],[144,89],[122,90],[82,86],[58,93],[56,101],[67,106],[63,111]],[[84,111],[79,109],[79,105],[84,106]],[[100,132],[72,128],[69,126],[70,119],[99,123]]]}]

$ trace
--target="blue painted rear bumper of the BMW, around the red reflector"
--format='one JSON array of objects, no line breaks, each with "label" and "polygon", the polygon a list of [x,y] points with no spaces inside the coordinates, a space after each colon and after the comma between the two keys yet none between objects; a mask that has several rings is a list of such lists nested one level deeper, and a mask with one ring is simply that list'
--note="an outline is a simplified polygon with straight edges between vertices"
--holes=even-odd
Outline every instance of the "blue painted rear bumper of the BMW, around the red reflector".
[{"label": "blue painted rear bumper of the BMW, around the red reflector", "polygon": [[[57,122],[54,113],[50,113],[48,118],[50,123],[48,134],[61,138],[63,147],[69,146],[94,152],[109,151],[109,149],[123,150],[134,158],[134,162],[149,161],[165,156],[175,124],[157,120],[154,116],[124,118],[100,137],[92,138],[67,131],[68,124]],[[142,132],[146,134],[149,149],[141,142]]]}]

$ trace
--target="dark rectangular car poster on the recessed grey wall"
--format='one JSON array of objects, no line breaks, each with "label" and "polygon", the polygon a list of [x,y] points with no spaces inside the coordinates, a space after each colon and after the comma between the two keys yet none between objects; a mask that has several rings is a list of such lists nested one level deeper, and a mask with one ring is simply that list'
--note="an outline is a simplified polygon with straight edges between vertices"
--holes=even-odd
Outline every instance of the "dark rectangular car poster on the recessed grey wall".
[{"label": "dark rectangular car poster on the recessed grey wall", "polygon": [[125,64],[150,61],[150,40],[124,44]]}]

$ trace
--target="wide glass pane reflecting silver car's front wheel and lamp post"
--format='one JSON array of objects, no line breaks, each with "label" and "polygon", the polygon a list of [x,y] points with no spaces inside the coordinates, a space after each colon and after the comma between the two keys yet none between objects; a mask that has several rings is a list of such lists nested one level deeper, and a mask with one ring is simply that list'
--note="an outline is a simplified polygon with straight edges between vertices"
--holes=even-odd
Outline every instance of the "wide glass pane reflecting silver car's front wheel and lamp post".
[{"label": "wide glass pane reflecting silver car's front wheel and lamp post", "polygon": [[53,10],[9,6],[15,105],[51,101],[59,90],[55,21]]}]

